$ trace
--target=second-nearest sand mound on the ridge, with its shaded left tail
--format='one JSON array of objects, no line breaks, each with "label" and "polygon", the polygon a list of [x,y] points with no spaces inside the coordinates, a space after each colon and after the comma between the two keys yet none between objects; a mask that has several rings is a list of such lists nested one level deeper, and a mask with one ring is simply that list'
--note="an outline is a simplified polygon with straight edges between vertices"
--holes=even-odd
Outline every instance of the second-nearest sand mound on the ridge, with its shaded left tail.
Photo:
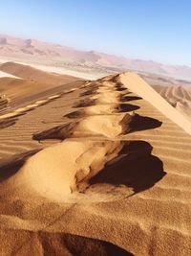
[{"label": "second-nearest sand mound on the ridge, with its shaded left tail", "polygon": [[133,116],[130,114],[89,116],[80,121],[35,134],[33,139],[65,139],[96,136],[97,134],[112,138],[130,130],[132,119]]}]

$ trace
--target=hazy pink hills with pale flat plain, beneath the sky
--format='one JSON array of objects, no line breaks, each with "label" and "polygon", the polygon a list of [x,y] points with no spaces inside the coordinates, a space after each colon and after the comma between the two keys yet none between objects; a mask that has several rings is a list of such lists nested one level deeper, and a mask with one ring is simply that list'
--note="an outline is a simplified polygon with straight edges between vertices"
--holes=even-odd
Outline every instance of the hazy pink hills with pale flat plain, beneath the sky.
[{"label": "hazy pink hills with pale flat plain, beneath the sky", "polygon": [[[98,79],[100,75],[133,70],[169,78],[191,81],[191,68],[166,65],[153,60],[125,58],[97,51],[80,51],[71,47],[32,38],[0,35],[0,62],[30,63],[38,69],[67,74],[82,79]],[[64,73],[63,73],[64,72]]]}]

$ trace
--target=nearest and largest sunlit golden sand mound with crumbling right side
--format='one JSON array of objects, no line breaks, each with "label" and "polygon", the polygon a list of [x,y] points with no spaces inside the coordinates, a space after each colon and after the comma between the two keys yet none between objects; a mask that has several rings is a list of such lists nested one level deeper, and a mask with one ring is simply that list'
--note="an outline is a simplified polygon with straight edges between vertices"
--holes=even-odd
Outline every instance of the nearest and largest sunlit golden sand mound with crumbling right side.
[{"label": "nearest and largest sunlit golden sand mound with crumbling right side", "polygon": [[24,182],[27,189],[33,189],[43,197],[67,201],[80,181],[96,175],[121,148],[119,141],[66,140],[33,155],[8,185]]}]

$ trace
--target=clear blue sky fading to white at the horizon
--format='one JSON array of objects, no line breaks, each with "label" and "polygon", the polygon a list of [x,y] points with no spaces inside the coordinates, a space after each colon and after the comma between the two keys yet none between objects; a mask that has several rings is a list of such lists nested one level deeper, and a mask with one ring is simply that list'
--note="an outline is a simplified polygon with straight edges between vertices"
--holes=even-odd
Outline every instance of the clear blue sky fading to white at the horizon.
[{"label": "clear blue sky fading to white at the horizon", "polygon": [[191,66],[191,0],[0,0],[0,33]]}]

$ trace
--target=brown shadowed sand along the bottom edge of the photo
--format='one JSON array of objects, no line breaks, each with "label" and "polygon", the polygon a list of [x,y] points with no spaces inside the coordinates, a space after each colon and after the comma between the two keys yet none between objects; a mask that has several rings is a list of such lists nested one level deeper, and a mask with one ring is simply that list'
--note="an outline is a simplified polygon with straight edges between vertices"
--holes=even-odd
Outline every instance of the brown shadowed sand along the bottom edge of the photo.
[{"label": "brown shadowed sand along the bottom edge of the photo", "polygon": [[[0,234],[2,255],[7,255],[9,237],[11,255],[44,256],[133,256],[106,241],[61,232],[7,229]],[[43,253],[41,254],[40,252]],[[32,253],[31,253],[32,252]],[[40,254],[39,254],[40,253]]]}]

